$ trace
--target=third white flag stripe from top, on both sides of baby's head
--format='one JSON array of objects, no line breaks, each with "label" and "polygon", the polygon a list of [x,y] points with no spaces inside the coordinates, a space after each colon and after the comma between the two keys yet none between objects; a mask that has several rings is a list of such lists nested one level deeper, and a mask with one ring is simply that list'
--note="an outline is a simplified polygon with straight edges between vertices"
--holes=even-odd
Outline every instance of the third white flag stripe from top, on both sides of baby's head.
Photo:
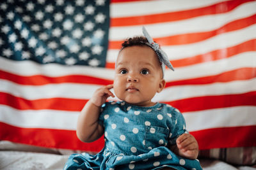
[{"label": "third white flag stripe from top, on both sides of baby's head", "polygon": [[[188,45],[161,46],[170,60],[184,59],[204,54],[213,50],[239,45],[244,41],[256,38],[256,24],[238,31],[226,32],[212,38]],[[108,50],[107,62],[115,62],[119,50]]]}]

